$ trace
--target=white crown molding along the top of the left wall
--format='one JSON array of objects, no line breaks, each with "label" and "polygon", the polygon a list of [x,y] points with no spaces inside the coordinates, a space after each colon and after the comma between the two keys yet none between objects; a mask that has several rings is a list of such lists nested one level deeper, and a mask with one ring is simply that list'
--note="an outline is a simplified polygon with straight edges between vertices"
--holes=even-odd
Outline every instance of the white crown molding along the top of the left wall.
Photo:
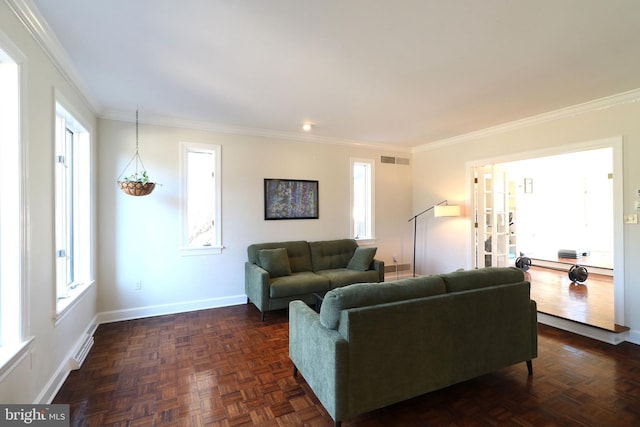
[{"label": "white crown molding along the top of the left wall", "polygon": [[36,40],[71,88],[77,92],[94,114],[99,111],[100,106],[89,97],[90,92],[75,72],[69,55],[33,2],[31,0],[5,0],[5,3]]}]

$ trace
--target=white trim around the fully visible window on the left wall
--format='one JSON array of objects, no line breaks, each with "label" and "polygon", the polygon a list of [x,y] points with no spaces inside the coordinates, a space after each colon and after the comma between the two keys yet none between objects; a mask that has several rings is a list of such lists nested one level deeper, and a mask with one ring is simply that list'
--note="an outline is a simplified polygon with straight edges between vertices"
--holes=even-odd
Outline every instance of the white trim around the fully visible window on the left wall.
[{"label": "white trim around the fully visible window on the left wall", "polygon": [[[92,148],[91,147],[91,139],[93,138],[93,132],[90,126],[88,126],[87,124],[83,123],[81,121],[81,116],[79,114],[77,114],[77,112],[70,107],[69,102],[66,101],[65,97],[58,91],[55,91],[55,103],[54,103],[54,117],[56,117],[56,120],[54,120],[54,129],[53,129],[53,136],[54,138],[57,137],[56,135],[56,123],[57,123],[57,117],[58,116],[63,116],[67,127],[70,127],[72,129],[76,129],[79,131],[78,136],[81,138],[81,144],[87,144],[88,145],[88,149],[89,151],[89,159],[91,162],[93,162],[93,153],[92,153]],[[82,130],[80,132],[80,130]],[[55,140],[54,140],[54,144],[55,144]],[[88,184],[85,183],[85,185],[88,185],[89,188],[93,187],[93,172],[90,171],[89,174],[89,179],[91,182],[89,182]],[[91,254],[89,254],[89,259],[88,259],[88,277],[83,277],[80,278],[77,282],[75,282],[73,284],[72,289],[69,290],[68,294],[64,297],[64,298],[59,298],[58,295],[58,290],[57,290],[57,286],[58,284],[56,283],[56,288],[54,289],[54,301],[55,301],[55,315],[53,316],[54,322],[57,325],[74,307],[76,307],[80,301],[82,301],[84,295],[87,293],[87,291],[91,288],[91,286],[94,285],[95,283],[95,270],[94,270],[94,237],[95,237],[95,231],[94,231],[94,220],[93,220],[93,215],[94,215],[94,205],[93,205],[93,196],[92,196],[92,192],[89,191],[88,194],[89,200],[87,201],[88,203],[88,207],[87,209],[89,210],[88,212],[88,221],[90,221],[90,224],[88,226],[88,231],[90,233],[89,235],[89,241],[88,241],[88,247],[91,250]],[[55,200],[54,200],[55,203]],[[56,244],[57,242],[53,243],[53,247],[54,247],[54,253],[56,251]]]}]

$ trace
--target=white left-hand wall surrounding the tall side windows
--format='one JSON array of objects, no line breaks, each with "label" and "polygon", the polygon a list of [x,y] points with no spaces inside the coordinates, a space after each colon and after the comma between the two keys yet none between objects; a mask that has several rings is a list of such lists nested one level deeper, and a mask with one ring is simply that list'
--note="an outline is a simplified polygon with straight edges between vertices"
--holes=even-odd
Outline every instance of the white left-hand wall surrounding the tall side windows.
[{"label": "white left-hand wall surrounding the tall side windows", "polygon": [[[49,401],[68,373],[69,356],[96,315],[96,286],[82,303],[55,322],[53,135],[54,92],[69,103],[89,130],[96,119],[45,55],[5,2],[0,2],[0,44],[9,42],[21,52],[22,141],[26,165],[27,205],[25,282],[28,293],[27,335],[33,337],[28,354],[0,378],[0,402]],[[95,163],[95,141],[94,163]]]}]

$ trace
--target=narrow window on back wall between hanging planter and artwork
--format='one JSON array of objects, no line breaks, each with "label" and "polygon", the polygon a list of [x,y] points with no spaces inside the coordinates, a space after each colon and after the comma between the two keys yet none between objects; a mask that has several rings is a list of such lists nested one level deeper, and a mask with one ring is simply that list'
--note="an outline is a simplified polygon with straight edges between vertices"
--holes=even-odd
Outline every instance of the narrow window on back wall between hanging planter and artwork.
[{"label": "narrow window on back wall between hanging planter and artwork", "polygon": [[184,254],[222,250],[221,146],[182,143],[182,248]]}]

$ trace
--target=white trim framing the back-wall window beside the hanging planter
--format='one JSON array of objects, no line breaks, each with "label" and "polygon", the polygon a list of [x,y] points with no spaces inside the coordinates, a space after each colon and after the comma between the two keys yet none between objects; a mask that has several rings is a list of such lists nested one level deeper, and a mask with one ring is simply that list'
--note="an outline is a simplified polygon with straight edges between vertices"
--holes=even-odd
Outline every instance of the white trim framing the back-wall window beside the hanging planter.
[{"label": "white trim framing the back-wall window beside the hanging planter", "polygon": [[[187,245],[187,153],[189,151],[213,152],[215,157],[215,212],[214,228],[216,242],[211,246],[194,248]],[[222,244],[222,146],[219,144],[186,142],[180,143],[180,247],[181,256],[219,255],[224,246]]]}]

